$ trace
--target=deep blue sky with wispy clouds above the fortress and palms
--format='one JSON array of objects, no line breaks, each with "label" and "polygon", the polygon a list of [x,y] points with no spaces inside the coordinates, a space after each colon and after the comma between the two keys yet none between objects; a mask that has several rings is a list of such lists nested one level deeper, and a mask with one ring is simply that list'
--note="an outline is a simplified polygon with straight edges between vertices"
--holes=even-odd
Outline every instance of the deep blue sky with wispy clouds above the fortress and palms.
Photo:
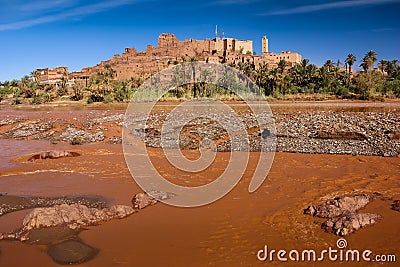
[{"label": "deep blue sky with wispy clouds above the fortress and palms", "polygon": [[[295,51],[322,65],[361,59],[400,59],[400,0],[0,0],[0,81],[37,68],[93,66],[125,47],[157,45],[160,33],[178,39],[250,39],[261,51]],[[359,62],[357,62],[359,65]]]}]

